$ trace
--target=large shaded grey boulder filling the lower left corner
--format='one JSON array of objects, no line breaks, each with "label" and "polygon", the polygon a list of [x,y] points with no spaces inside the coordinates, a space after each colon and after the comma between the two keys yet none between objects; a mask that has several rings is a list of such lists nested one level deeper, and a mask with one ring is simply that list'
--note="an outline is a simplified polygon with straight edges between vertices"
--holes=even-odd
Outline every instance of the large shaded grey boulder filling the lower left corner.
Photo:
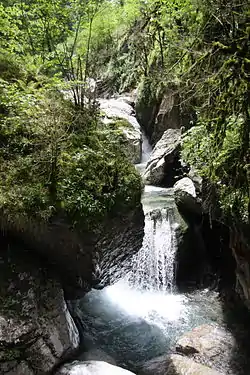
[{"label": "large shaded grey boulder filling the lower left corner", "polygon": [[59,282],[1,238],[0,373],[47,374],[78,344]]}]

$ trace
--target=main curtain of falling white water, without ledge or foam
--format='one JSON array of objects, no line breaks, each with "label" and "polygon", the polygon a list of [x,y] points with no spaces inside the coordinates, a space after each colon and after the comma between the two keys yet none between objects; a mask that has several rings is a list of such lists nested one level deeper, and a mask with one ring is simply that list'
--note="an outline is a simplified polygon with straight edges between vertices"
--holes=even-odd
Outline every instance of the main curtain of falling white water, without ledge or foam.
[{"label": "main curtain of falling white water, without ledge or foam", "polygon": [[131,287],[148,291],[174,290],[175,233],[172,209],[163,208],[145,215],[145,235],[139,253],[132,259],[126,279]]}]

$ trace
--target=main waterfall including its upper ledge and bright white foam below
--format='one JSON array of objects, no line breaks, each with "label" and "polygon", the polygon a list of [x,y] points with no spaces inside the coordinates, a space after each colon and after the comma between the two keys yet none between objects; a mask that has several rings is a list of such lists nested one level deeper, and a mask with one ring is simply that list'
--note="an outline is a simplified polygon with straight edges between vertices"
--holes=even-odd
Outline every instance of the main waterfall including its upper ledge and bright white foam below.
[{"label": "main waterfall including its upper ledge and bright white foam below", "polygon": [[172,189],[146,186],[142,196],[145,214],[141,250],[131,270],[104,289],[107,300],[131,317],[143,319],[166,332],[187,309],[185,297],[175,294],[176,236]]}]

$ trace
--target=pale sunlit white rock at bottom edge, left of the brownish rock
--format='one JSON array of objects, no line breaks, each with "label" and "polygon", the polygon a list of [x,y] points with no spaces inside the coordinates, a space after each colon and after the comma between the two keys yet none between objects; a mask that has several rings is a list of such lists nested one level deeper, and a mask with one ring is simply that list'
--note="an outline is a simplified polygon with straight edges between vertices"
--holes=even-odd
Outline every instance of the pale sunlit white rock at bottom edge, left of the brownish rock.
[{"label": "pale sunlit white rock at bottom edge, left of the brownish rock", "polygon": [[59,370],[56,375],[133,375],[121,367],[102,361],[75,361]]}]

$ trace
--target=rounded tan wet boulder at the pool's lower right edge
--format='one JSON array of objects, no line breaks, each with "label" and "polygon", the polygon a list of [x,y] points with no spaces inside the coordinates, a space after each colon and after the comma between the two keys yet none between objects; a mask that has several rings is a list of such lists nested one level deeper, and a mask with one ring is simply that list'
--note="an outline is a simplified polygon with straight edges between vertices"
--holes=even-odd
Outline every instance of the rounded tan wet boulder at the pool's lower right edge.
[{"label": "rounded tan wet boulder at the pool's lower right edge", "polygon": [[194,328],[178,340],[176,351],[228,375],[241,374],[239,363],[232,362],[237,352],[235,339],[218,325],[204,324]]}]

